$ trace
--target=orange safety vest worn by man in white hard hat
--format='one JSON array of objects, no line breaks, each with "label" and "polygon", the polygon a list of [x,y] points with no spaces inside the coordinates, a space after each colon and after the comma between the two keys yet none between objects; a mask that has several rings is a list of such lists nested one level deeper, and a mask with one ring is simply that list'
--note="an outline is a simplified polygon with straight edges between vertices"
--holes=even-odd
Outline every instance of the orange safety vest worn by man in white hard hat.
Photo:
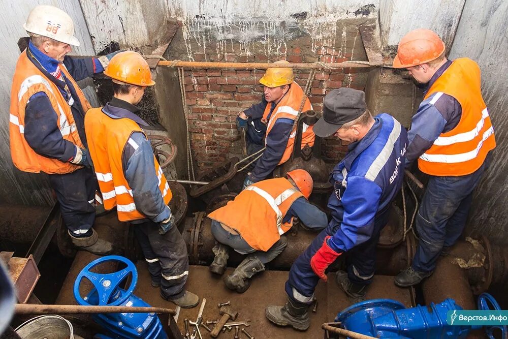
[{"label": "orange safety vest worn by man in white hard hat", "polygon": [[[74,99],[78,99],[81,102],[81,107],[86,112],[91,106],[83,95],[83,92],[71,77],[65,65],[60,64],[60,69],[76,90],[78,98]],[[71,106],[63,98],[58,87],[28,59],[25,50],[18,58],[11,88],[9,137],[11,142],[11,158],[14,166],[25,172],[45,172],[48,174],[71,173],[82,168],[83,166],[41,156],[26,142],[24,136],[25,107],[28,99],[38,92],[44,92],[48,96],[51,106],[53,106],[53,110],[58,117],[58,129],[63,139],[84,148],[76,129]]]}]

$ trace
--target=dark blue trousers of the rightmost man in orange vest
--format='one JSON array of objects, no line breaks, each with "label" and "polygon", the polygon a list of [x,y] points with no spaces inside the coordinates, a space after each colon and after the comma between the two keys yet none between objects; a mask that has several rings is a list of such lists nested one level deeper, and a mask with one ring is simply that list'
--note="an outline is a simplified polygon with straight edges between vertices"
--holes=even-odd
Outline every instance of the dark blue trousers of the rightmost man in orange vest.
[{"label": "dark blue trousers of the rightmost man in orange vest", "polygon": [[474,188],[480,182],[486,160],[475,172],[462,176],[430,176],[416,216],[420,237],[412,262],[416,271],[436,267],[443,246],[452,246],[462,234],[471,207]]}]

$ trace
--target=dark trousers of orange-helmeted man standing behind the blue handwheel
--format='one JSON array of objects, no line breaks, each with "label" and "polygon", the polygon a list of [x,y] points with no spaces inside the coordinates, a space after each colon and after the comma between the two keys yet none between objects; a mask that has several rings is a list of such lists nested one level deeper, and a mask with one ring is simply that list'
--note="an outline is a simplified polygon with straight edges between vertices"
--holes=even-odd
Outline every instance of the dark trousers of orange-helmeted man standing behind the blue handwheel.
[{"label": "dark trousers of orange-helmeted man standing behind the blue handwheel", "polygon": [[177,299],[185,293],[189,273],[187,245],[176,226],[164,235],[158,230],[158,223],[152,221],[134,225],[152,281],[161,284],[165,299]]}]

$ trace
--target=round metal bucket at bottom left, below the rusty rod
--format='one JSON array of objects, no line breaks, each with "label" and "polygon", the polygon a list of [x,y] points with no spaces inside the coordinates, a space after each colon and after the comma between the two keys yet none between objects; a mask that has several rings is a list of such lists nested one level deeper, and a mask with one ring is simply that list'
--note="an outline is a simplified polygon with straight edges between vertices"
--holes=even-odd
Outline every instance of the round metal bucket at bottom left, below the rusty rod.
[{"label": "round metal bucket at bottom left, below the rusty rod", "polygon": [[74,339],[72,324],[57,315],[39,316],[25,321],[15,329],[23,339]]}]

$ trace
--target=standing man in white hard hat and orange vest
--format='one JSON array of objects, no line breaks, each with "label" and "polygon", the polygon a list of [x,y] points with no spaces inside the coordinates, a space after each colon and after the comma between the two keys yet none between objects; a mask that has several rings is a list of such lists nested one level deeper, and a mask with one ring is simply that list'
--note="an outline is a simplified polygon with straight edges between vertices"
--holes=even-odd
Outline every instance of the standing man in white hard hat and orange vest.
[{"label": "standing man in white hard hat and orange vest", "polygon": [[35,7],[23,28],[30,42],[19,56],[12,82],[12,161],[22,171],[49,175],[63,221],[78,248],[108,254],[111,243],[92,229],[97,180],[84,132],[90,104],[76,81],[102,72],[112,55],[68,56],[79,41],[71,17],[54,6]]}]

